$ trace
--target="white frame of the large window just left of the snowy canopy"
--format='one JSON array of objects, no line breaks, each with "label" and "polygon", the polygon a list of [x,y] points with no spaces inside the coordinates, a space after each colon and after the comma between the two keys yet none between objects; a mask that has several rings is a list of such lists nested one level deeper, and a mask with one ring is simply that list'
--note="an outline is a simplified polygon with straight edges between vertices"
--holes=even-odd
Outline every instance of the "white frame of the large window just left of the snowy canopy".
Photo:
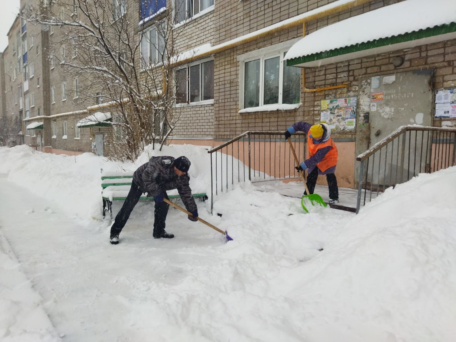
[{"label": "white frame of the large window just left of the snowy canopy", "polygon": [[[264,106],[269,106],[269,105],[283,105],[283,86],[284,86],[284,57],[286,52],[289,50],[284,48],[280,49],[280,51],[264,51],[264,52],[258,52],[256,56],[250,56],[246,58],[240,58],[240,70],[239,70],[239,108],[240,109],[246,109],[246,108],[256,108],[255,107],[246,107],[244,100],[244,91],[245,91],[245,63],[247,62],[252,62],[256,60],[260,60],[260,73],[259,73],[259,105],[258,107],[264,107]],[[278,98],[278,103],[276,104],[264,104],[264,61],[279,57],[279,98]],[[301,88],[299,88],[299,92],[301,93]],[[301,102],[301,94],[300,94],[300,102]],[[298,103],[299,104],[299,103]],[[297,104],[296,104],[297,105]]]}]

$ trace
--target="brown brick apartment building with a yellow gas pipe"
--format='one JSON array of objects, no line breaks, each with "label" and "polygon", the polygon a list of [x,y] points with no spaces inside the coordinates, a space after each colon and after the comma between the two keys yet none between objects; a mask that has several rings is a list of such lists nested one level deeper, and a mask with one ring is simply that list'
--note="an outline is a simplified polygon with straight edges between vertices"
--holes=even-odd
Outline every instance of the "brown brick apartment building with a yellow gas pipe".
[{"label": "brown brick apartment building with a yellow gas pipe", "polygon": [[[339,184],[354,187],[356,155],[400,125],[456,124],[454,118],[434,115],[436,91],[456,88],[454,21],[447,24],[444,33],[428,30],[427,36],[407,38],[405,45],[394,45],[395,41],[390,41],[377,49],[359,47],[364,41],[357,41],[362,39],[358,38],[358,31],[372,30],[372,27],[331,31],[332,24],[350,24],[354,18],[363,18],[369,12],[401,2],[415,7],[426,1],[145,0],[140,3],[114,0],[113,4],[120,4],[129,20],[140,24],[139,36],[149,37],[149,41],[141,43],[141,55],[158,63],[154,64],[157,70],[161,68],[157,57],[161,39],[154,27],[163,22],[167,13],[173,18],[170,29],[175,51],[182,56],[192,56],[183,57],[174,65],[176,79],[183,82],[176,87],[180,121],[170,139],[172,143],[216,146],[247,130],[285,131],[295,121],[317,123],[323,120],[322,112],[326,113],[331,100],[343,102],[345,99],[346,104],[354,101],[350,120],[324,118],[328,123],[335,122],[332,136],[339,149]],[[45,8],[49,4],[41,0],[41,5]],[[455,4],[448,1],[448,10],[454,11],[454,7]],[[380,21],[375,24],[379,32],[382,31],[381,20],[394,26],[382,13],[373,13],[374,18],[379,13]],[[311,41],[312,34],[318,34],[323,28],[329,29],[332,36],[321,37],[321,40],[327,39],[327,44],[321,43],[321,51],[308,55],[298,53],[294,59],[285,59],[290,49],[299,47],[295,44],[300,44],[303,34],[304,39]],[[94,151],[95,135],[98,135],[98,144],[101,141],[103,145],[112,128],[76,128],[78,120],[94,111],[90,106],[95,103],[75,104],[71,95],[64,100],[63,84],[66,89],[71,88],[68,85],[74,88],[74,75],[58,73],[58,65],[52,65],[44,54],[39,56],[43,50],[47,55],[49,52],[58,54],[55,49],[61,47],[52,46],[52,36],[58,34],[57,29],[52,33],[47,28],[32,27],[19,19],[15,21],[9,34],[10,45],[4,52],[5,70],[17,67],[17,74],[26,75],[27,80],[21,75],[11,85],[6,82],[7,94],[11,88],[11,95],[18,98],[13,110],[24,119],[25,127],[43,122],[34,132],[25,132],[26,144],[37,145],[36,137],[41,136],[43,151],[70,154]],[[347,41],[347,36],[353,40]],[[380,35],[378,39],[391,39],[391,36]],[[325,46],[332,48],[333,41],[337,40],[345,41],[345,45],[337,46],[338,52],[333,53],[331,59],[323,52]],[[152,44],[155,49],[150,41],[155,42]],[[14,52],[14,44],[21,45],[22,50],[17,47]],[[67,46],[70,45],[68,42]],[[358,51],[343,50],[347,45],[359,47]],[[30,75],[32,64],[33,77]],[[415,102],[415,96],[411,106],[410,97],[414,94],[421,94],[420,100]],[[102,111],[109,110],[113,109]],[[109,146],[102,147],[106,153]]]}]

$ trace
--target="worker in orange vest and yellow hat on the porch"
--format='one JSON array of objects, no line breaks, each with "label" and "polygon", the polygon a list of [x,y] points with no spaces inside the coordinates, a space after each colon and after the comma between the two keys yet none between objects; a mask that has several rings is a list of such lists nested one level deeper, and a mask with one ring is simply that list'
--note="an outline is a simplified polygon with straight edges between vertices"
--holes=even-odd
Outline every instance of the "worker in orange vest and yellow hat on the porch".
[{"label": "worker in orange vest and yellow hat on the porch", "polygon": [[[330,204],[339,202],[339,189],[334,171],[337,165],[337,147],[331,139],[331,128],[327,124],[309,124],[298,121],[292,124],[284,133],[285,139],[290,138],[296,131],[307,134],[307,145],[309,147],[309,158],[303,161],[296,170],[307,170],[307,187],[312,194],[315,189],[318,175],[326,175],[329,188]],[[306,195],[306,192],[304,192]]]}]

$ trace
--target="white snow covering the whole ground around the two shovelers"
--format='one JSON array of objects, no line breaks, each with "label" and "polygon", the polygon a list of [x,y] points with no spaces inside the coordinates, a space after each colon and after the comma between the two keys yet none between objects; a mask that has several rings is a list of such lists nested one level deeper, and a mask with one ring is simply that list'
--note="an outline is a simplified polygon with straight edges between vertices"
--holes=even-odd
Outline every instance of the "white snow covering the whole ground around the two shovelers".
[{"label": "white snow covering the whole ground around the two shovelers", "polygon": [[[210,184],[206,150],[164,153],[187,155],[194,184]],[[99,169],[116,163],[25,146],[0,148],[0,160],[0,341],[456,336],[456,167],[388,189],[357,216],[304,214],[299,200],[249,184],[216,198],[221,218],[197,202],[229,243],[175,209],[176,238],[153,239],[152,204],[141,201],[113,246]]]}]

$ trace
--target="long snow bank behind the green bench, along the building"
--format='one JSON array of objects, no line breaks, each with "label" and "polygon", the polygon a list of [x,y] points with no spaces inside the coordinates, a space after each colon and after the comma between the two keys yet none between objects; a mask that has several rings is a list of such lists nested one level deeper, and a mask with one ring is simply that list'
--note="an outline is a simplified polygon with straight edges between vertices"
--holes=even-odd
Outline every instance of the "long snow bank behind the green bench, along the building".
[{"label": "long snow bank behind the green bench, along the building", "polygon": [[4,161],[0,165],[0,173],[7,173],[8,181],[25,187],[24,196],[31,192],[51,198],[68,214],[90,222],[102,218],[102,173],[110,176],[133,175],[151,156],[186,155],[192,161],[190,187],[198,192],[210,193],[210,157],[206,149],[190,146],[163,146],[161,151],[147,146],[135,163],[123,163],[108,161],[92,153],[54,155],[20,145],[0,149],[0,159]]}]

